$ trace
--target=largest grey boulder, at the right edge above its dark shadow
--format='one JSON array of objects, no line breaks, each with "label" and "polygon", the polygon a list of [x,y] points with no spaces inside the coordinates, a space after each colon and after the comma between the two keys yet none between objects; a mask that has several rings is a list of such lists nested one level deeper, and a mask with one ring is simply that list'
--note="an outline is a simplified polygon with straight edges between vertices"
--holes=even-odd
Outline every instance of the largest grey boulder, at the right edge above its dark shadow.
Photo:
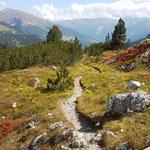
[{"label": "largest grey boulder, at the right edge above its dark shadow", "polygon": [[109,100],[107,113],[118,116],[128,112],[143,111],[150,106],[150,95],[143,93],[126,93],[112,96]]}]

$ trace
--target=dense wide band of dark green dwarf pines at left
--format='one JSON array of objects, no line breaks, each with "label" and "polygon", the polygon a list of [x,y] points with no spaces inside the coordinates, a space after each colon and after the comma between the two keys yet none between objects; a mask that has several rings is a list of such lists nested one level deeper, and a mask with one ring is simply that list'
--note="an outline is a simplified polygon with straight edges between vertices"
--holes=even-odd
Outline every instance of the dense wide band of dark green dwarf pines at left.
[{"label": "dense wide band of dark green dwarf pines at left", "polygon": [[0,71],[33,65],[67,64],[81,58],[82,49],[74,41],[41,42],[30,47],[0,49]]}]

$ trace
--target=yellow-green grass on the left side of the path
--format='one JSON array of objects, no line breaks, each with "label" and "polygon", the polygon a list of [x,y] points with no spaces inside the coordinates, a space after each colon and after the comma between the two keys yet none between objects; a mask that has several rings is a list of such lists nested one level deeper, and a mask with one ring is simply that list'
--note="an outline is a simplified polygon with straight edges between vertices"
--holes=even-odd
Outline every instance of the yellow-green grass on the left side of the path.
[{"label": "yellow-green grass on the left side of the path", "polygon": [[[16,150],[21,146],[18,142],[23,136],[27,137],[26,145],[41,132],[48,132],[48,126],[57,121],[63,121],[69,126],[59,107],[59,101],[68,98],[72,90],[64,92],[42,93],[39,89],[28,86],[28,81],[38,78],[41,86],[46,87],[47,78],[55,77],[50,68],[34,67],[25,70],[14,70],[0,74],[0,124],[7,120],[27,119],[38,120],[40,124],[35,129],[20,127],[0,140],[0,150]],[[12,104],[17,102],[17,108]],[[48,116],[52,113],[53,116]],[[2,117],[6,118],[3,119]],[[20,131],[21,130],[21,131]],[[54,132],[48,132],[50,136]],[[13,142],[11,143],[11,141]],[[49,147],[50,149],[50,147]]]}]

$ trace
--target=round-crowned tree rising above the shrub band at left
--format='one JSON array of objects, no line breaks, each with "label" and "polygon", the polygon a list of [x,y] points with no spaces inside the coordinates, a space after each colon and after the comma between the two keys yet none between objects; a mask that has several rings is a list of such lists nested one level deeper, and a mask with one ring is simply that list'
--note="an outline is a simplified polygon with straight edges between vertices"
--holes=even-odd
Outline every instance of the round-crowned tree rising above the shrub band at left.
[{"label": "round-crowned tree rising above the shrub band at left", "polygon": [[62,33],[57,26],[53,26],[47,34],[47,43],[58,42],[62,38]]}]

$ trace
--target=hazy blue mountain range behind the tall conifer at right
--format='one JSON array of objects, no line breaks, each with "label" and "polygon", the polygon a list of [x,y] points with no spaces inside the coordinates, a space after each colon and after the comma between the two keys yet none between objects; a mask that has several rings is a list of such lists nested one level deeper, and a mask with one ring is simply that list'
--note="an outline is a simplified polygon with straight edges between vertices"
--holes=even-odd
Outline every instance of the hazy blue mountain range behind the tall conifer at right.
[{"label": "hazy blue mountain range behind the tall conifer at right", "polygon": [[[150,18],[123,18],[127,27],[127,38],[136,41],[146,37],[150,31]],[[118,20],[109,18],[77,19],[58,21],[57,23],[71,28],[98,41],[104,41],[108,32],[111,34]]]}]

